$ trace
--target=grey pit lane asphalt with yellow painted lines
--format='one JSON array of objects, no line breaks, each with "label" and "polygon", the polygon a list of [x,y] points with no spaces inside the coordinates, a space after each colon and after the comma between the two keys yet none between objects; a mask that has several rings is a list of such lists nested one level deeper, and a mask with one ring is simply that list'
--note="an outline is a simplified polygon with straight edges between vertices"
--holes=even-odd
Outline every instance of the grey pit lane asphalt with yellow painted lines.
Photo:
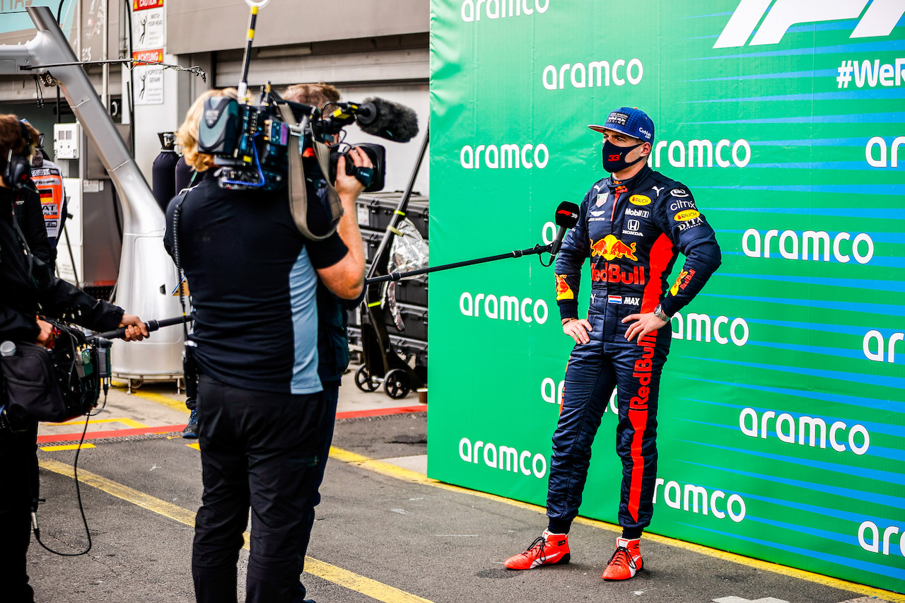
[{"label": "grey pit lane asphalt with yellow painted lines", "polygon": [[[351,389],[342,388],[343,395],[351,395]],[[391,404],[415,404],[414,395]],[[840,603],[877,594],[764,570],[666,539],[643,541],[645,570],[634,579],[605,582],[600,575],[616,533],[599,523],[573,526],[570,564],[505,570],[502,561],[524,550],[545,527],[542,510],[396,469],[394,464],[423,465],[425,436],[425,412],[338,420],[334,445],[339,450],[331,455],[321,488],[309,550],[314,560],[307,565],[318,576],[303,576],[310,597],[320,603]],[[85,556],[62,558],[33,541],[29,571],[35,600],[194,601],[190,524],[201,493],[198,451],[166,435],[95,444],[81,451],[79,461],[83,480],[98,486],[81,486],[93,548]],[[59,473],[65,473],[74,454],[39,452],[47,499],[40,513],[43,541],[69,552],[84,544],[74,482]],[[392,464],[366,458],[392,459]],[[246,561],[243,550],[239,600]]]}]

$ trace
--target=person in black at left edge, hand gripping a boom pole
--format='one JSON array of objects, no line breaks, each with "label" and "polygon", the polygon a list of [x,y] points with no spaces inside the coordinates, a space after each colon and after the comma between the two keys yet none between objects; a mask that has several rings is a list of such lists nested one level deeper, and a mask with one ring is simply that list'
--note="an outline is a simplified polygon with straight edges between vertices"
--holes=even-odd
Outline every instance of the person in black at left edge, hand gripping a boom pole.
[{"label": "person in black at left edge, hand gripping a boom pole", "polygon": [[[48,346],[53,332],[48,323],[36,320],[39,312],[96,330],[127,326],[127,340],[144,339],[148,330],[138,316],[53,277],[47,264],[28,252],[14,217],[23,190],[15,185],[27,175],[37,142],[28,128],[14,115],[0,115],[0,341]],[[5,402],[0,397],[0,407]],[[0,427],[0,584],[9,603],[33,601],[25,553],[31,540],[29,514],[38,498],[37,432],[37,421],[22,431]]]}]

